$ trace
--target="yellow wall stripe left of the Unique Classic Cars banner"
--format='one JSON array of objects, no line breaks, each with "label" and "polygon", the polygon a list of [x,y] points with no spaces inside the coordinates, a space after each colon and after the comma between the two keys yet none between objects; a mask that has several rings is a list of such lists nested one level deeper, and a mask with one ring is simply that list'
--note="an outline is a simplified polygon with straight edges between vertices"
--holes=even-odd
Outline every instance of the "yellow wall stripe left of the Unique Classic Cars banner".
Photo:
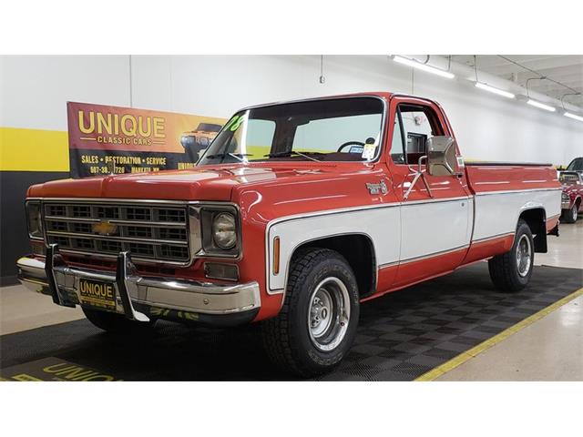
[{"label": "yellow wall stripe left of the Unique Classic Cars banner", "polygon": [[0,127],[1,171],[69,171],[66,131]]}]

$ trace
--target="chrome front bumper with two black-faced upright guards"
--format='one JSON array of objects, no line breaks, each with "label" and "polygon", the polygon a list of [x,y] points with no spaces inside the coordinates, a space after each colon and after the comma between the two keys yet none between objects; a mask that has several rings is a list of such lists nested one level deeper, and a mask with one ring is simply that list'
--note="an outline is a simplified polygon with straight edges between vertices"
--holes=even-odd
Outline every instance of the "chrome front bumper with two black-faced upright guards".
[{"label": "chrome front bumper with two black-faced upright guards", "polygon": [[62,306],[80,302],[80,279],[107,281],[116,290],[116,311],[130,320],[152,318],[195,320],[215,325],[250,322],[261,307],[259,284],[216,284],[190,279],[139,276],[128,252],[118,255],[115,272],[66,265],[56,244],[46,248],[46,261],[23,257],[18,279],[28,289],[50,295]]}]

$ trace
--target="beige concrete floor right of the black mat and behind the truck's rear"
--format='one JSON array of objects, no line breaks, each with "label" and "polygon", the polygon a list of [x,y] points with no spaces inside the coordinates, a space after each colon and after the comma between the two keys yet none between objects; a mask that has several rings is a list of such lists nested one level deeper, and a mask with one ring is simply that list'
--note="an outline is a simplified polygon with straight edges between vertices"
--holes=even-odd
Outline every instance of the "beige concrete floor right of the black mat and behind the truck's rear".
[{"label": "beige concrete floor right of the black mat and behind the truck's rear", "polygon": [[[583,216],[559,229],[560,237],[549,237],[548,252],[537,253],[535,264],[583,269]],[[436,381],[583,381],[583,296]]]}]

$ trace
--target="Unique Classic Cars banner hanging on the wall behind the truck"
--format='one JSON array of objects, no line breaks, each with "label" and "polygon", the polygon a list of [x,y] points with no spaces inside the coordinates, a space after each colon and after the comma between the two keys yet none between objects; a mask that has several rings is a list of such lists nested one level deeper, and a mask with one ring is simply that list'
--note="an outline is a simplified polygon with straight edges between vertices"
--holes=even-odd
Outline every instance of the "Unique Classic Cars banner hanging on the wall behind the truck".
[{"label": "Unique Classic Cars banner hanging on the wall behind the truck", "polygon": [[192,168],[226,121],[67,102],[71,178]]}]

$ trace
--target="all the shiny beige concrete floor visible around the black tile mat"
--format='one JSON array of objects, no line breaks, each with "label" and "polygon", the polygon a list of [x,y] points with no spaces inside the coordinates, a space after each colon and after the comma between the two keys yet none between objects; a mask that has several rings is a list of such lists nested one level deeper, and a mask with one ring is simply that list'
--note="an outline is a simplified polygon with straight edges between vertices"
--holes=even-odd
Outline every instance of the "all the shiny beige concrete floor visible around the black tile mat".
[{"label": "all the shiny beige concrete floor visible around the black tile mat", "polygon": [[[537,265],[583,269],[583,217],[549,237]],[[583,287],[583,278],[581,278]],[[20,285],[0,289],[0,335],[83,318]],[[437,381],[583,381],[583,297],[440,376]]]}]

